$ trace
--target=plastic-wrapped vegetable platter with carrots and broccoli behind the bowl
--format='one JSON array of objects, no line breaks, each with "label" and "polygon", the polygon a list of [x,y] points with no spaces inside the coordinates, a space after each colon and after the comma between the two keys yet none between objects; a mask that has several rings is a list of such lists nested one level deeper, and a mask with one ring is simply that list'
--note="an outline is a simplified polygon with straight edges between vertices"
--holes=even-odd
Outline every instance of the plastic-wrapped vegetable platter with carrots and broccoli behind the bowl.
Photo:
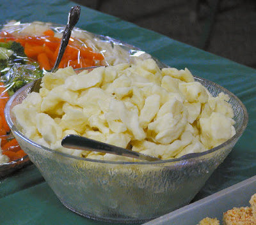
[{"label": "plastic-wrapped vegetable platter with carrots and broccoli behind the bowl", "polygon": [[[65,25],[43,22],[23,24],[14,20],[1,27],[0,99],[2,105],[0,110],[2,124],[5,123],[4,106],[9,96],[12,96],[26,83],[42,77],[46,70],[54,66],[64,29]],[[17,50],[16,48],[15,50],[9,49],[13,43]],[[6,47],[5,50],[4,47]],[[132,45],[75,27],[59,68],[72,66],[74,69],[79,69],[88,66],[108,66],[125,62],[132,63],[136,58],[150,57],[146,52]],[[161,62],[158,64],[165,66]],[[0,136],[2,140],[0,158],[5,159],[5,161],[0,160],[0,176],[4,176],[27,164],[29,159],[19,149],[19,145],[16,146],[15,141],[12,141],[15,145],[10,145],[9,149],[3,146],[7,140],[13,140],[10,129],[3,130]],[[9,156],[9,160],[6,161],[6,157],[2,154]]]}]

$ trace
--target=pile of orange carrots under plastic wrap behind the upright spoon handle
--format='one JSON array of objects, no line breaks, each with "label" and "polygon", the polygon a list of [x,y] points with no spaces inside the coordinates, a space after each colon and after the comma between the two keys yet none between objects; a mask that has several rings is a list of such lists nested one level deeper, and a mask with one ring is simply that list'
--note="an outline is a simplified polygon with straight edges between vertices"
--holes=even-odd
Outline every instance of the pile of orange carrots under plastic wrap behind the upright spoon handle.
[{"label": "pile of orange carrots under plastic wrap behind the upright spoon handle", "polygon": [[[61,42],[60,38],[54,36],[54,31],[51,29],[45,31],[43,36],[13,37],[8,33],[3,33],[0,38],[15,38],[15,41],[24,47],[25,54],[29,58],[38,61],[41,69],[45,68],[47,70],[54,65]],[[68,65],[74,68],[95,66],[95,61],[102,60],[104,60],[104,55],[93,52],[92,48],[86,47],[83,41],[70,38],[59,68],[65,68]]]}]

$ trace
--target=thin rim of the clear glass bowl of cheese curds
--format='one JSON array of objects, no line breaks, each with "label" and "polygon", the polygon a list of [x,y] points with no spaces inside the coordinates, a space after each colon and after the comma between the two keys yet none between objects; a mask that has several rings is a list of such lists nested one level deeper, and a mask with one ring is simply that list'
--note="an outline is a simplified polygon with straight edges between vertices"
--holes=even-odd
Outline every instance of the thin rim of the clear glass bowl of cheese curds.
[{"label": "thin rim of the clear glass bowl of cheese curds", "polygon": [[81,160],[81,161],[95,162],[95,163],[106,163],[106,164],[164,164],[164,163],[173,163],[173,162],[186,161],[188,159],[196,159],[198,157],[205,156],[207,154],[211,154],[212,152],[216,152],[220,149],[225,148],[227,145],[229,145],[232,142],[237,142],[237,140],[243,134],[244,129],[246,128],[246,126],[248,124],[247,110],[246,110],[245,106],[243,105],[243,103],[241,102],[241,100],[239,98],[237,98],[236,95],[234,95],[232,92],[228,91],[227,89],[225,89],[221,85],[218,85],[217,83],[211,82],[210,80],[207,80],[205,78],[200,78],[200,77],[197,77],[197,76],[194,76],[194,78],[195,78],[196,81],[199,80],[199,81],[202,81],[204,83],[209,83],[209,85],[215,86],[216,89],[220,89],[221,91],[228,94],[228,96],[236,99],[237,103],[239,103],[239,105],[241,106],[241,108],[243,110],[243,115],[244,115],[243,124],[241,124],[241,126],[238,127],[238,129],[236,130],[236,134],[234,136],[232,136],[232,138],[228,139],[226,142],[222,143],[221,145],[218,145],[217,147],[206,150],[204,152],[186,154],[186,155],[184,155],[182,157],[179,157],[177,159],[167,159],[167,160],[152,161],[152,162],[149,162],[149,161],[141,161],[141,162],[104,161],[104,160],[98,160],[98,159],[87,159],[87,158],[83,158],[83,157],[79,157],[79,156],[72,156],[70,154],[59,152],[58,150],[49,149],[47,147],[39,145],[38,143],[33,142],[32,140],[30,140],[29,138],[24,136],[24,134],[22,134],[19,131],[19,129],[13,124],[13,121],[12,121],[12,118],[11,118],[11,115],[10,115],[10,107],[13,103],[13,100],[16,98],[16,96],[18,96],[20,94],[20,92],[22,92],[22,91],[28,89],[29,87],[31,87],[32,83],[28,83],[27,85],[25,85],[24,87],[19,89],[19,91],[15,92],[15,94],[13,94],[13,96],[11,96],[8,103],[6,103],[6,107],[5,107],[5,110],[4,110],[4,115],[6,117],[6,122],[8,123],[10,128],[12,129],[12,132],[17,134],[17,136],[19,136],[22,140],[25,140],[26,142],[28,142],[29,145],[31,145],[31,147],[33,147],[33,146],[38,147],[38,148],[43,149],[47,152],[58,154],[60,156],[64,156],[64,157],[67,157],[67,158],[77,159],[77,160]]}]

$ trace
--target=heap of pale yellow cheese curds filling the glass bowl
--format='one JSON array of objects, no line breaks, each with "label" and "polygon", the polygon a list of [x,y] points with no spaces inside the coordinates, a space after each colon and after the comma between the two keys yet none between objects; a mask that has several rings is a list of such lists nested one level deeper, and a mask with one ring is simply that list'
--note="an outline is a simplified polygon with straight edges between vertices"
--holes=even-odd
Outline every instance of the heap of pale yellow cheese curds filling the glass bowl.
[{"label": "heap of pale yellow cheese curds filling the glass bowl", "polygon": [[22,133],[74,156],[135,161],[100,152],[65,149],[79,134],[161,159],[203,152],[235,134],[228,96],[216,98],[188,69],[159,69],[152,59],[83,71],[47,73],[39,93],[13,108]]}]

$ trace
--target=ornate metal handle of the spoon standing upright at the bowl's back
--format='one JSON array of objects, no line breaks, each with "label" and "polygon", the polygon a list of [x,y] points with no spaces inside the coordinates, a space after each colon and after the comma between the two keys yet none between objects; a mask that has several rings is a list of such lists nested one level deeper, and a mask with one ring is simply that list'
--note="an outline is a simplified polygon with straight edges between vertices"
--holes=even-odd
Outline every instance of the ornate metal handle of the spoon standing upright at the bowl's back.
[{"label": "ornate metal handle of the spoon standing upright at the bowl's back", "polygon": [[68,40],[70,38],[72,29],[74,26],[77,24],[79,17],[80,17],[80,11],[81,7],[80,6],[73,6],[68,14],[68,22],[67,26],[65,28],[65,31],[63,32],[63,36],[61,38],[61,43],[60,43],[60,49],[58,52],[58,57],[55,61],[54,67],[51,69],[51,72],[54,73],[58,69],[58,66],[60,64],[61,58],[65,52],[65,49],[68,45]]}]

